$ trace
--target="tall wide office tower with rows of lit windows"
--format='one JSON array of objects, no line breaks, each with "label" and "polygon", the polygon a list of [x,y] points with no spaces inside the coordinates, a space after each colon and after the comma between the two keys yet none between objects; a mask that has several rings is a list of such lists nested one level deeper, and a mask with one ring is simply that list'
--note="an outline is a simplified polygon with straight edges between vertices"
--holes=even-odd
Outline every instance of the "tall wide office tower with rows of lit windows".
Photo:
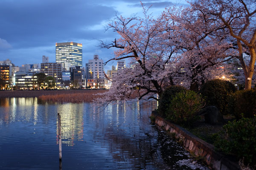
[{"label": "tall wide office tower with rows of lit windows", "polygon": [[76,42],[56,42],[56,62],[70,62],[82,66],[82,44]]}]

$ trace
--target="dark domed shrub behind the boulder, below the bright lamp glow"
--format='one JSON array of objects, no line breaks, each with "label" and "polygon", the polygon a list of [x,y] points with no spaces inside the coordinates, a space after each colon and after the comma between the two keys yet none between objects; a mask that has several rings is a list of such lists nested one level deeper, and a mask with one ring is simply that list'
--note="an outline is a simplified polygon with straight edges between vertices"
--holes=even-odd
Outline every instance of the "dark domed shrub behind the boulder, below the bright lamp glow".
[{"label": "dark domed shrub behind the boulder, below the bright lamp glow", "polygon": [[235,85],[221,79],[210,80],[200,89],[200,93],[206,99],[206,104],[216,106],[222,114],[226,113],[229,96],[235,91]]}]

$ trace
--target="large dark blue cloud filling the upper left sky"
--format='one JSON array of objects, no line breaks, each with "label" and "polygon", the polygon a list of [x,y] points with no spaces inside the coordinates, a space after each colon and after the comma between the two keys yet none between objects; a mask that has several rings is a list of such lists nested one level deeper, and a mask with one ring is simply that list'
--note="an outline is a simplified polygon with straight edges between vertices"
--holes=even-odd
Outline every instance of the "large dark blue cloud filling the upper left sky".
[{"label": "large dark blue cloud filling the upper left sky", "polygon": [[[23,0],[0,2],[0,37],[14,47],[47,45],[60,39],[70,40],[88,33],[87,26],[111,18],[111,7],[78,0]],[[40,3],[41,2],[41,3]]]}]

